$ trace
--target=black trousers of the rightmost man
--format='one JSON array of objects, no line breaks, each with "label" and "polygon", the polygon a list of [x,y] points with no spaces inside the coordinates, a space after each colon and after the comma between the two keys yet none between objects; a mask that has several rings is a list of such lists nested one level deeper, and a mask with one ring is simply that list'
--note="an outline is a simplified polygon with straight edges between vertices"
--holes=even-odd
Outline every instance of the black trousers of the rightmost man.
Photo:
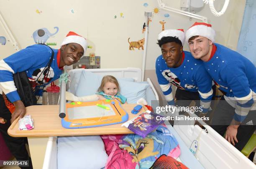
[{"label": "black trousers of the rightmost man", "polygon": [[[230,106],[230,104],[225,101],[225,98],[222,96],[216,110],[214,111],[211,127],[215,131],[218,132],[221,136],[224,136],[227,127],[232,121],[235,114],[235,108]],[[243,147],[246,145],[253,132],[256,129],[256,126],[252,123],[248,123],[252,121],[256,123],[256,110],[249,111],[249,114],[246,116],[246,119],[242,122],[242,124],[238,127],[236,138],[238,143],[235,144],[236,149],[241,151]],[[246,124],[247,123],[247,124]]]}]

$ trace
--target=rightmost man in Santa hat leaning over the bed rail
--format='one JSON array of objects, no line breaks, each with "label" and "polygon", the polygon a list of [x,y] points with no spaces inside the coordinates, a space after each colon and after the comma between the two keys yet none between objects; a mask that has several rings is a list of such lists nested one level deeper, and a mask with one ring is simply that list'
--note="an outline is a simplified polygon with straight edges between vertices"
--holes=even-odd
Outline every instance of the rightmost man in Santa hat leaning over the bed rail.
[{"label": "rightmost man in Santa hat leaning over the bed rail", "polygon": [[215,31],[207,23],[194,23],[186,42],[194,58],[203,61],[207,72],[224,94],[211,127],[242,150],[256,127],[256,68],[243,55],[214,43]]}]

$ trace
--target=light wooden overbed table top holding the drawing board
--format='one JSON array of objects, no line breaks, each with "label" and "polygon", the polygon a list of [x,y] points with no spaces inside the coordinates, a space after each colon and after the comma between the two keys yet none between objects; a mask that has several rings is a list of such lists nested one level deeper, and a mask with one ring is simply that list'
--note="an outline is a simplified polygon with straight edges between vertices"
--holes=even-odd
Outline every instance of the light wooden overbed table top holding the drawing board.
[{"label": "light wooden overbed table top holding the drawing board", "polygon": [[[123,104],[122,107],[128,113],[129,119],[143,113],[145,109],[135,115],[131,110],[137,104]],[[131,134],[129,129],[121,124],[113,124],[109,126],[100,126],[83,129],[66,129],[61,125],[59,117],[59,105],[40,105],[26,107],[26,115],[30,114],[33,119],[34,129],[19,130],[18,122],[8,129],[8,134],[13,137],[41,137],[41,136],[82,136],[82,135],[102,135],[102,134]],[[13,129],[11,129],[13,128]]]}]

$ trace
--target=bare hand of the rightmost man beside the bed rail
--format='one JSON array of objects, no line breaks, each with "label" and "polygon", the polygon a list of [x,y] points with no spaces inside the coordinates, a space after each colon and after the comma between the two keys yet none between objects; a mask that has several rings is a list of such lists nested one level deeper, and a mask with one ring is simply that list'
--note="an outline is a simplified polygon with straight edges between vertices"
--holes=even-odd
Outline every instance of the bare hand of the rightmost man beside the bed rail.
[{"label": "bare hand of the rightmost man beside the bed rail", "polygon": [[225,139],[228,140],[228,142],[230,142],[231,144],[233,144],[233,146],[235,146],[235,144],[238,143],[238,140],[236,139],[236,134],[239,125],[240,122],[233,119],[226,131]]}]

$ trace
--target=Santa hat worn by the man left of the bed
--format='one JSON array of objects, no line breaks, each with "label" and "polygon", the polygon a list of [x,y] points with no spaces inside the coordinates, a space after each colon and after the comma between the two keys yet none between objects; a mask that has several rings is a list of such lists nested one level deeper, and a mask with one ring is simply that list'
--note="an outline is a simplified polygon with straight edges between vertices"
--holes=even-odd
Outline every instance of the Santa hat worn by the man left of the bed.
[{"label": "Santa hat worn by the man left of the bed", "polygon": [[74,33],[72,31],[70,31],[66,38],[64,38],[63,42],[61,43],[62,45],[67,45],[69,43],[78,43],[79,45],[81,45],[84,48],[84,54],[86,52],[87,49],[87,40],[82,37],[81,35],[78,35],[77,33]]}]

